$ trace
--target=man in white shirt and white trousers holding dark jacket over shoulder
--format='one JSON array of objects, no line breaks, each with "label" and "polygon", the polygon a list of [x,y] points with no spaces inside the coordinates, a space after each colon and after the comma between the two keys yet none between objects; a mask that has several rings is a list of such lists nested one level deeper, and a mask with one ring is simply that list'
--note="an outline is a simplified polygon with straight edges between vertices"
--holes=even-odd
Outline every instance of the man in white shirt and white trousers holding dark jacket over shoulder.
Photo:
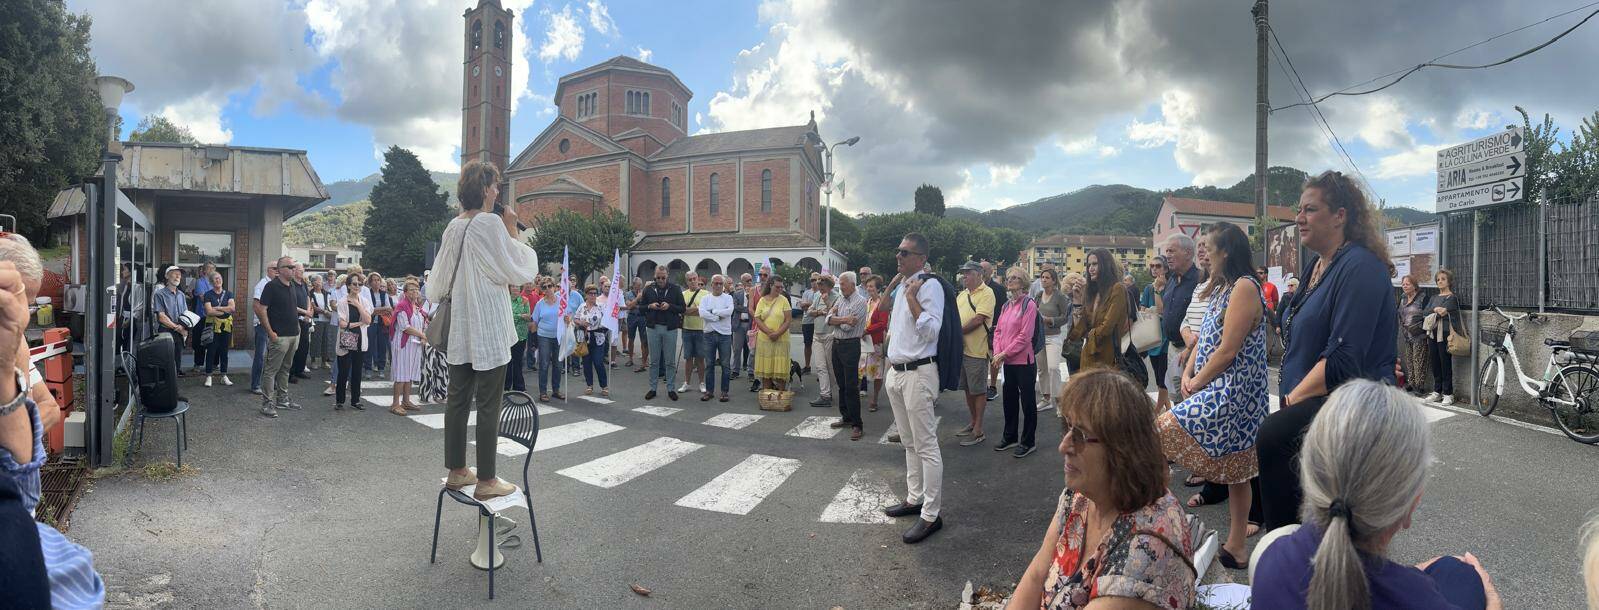
[{"label": "man in white shirt and white trousers holding dark jacket over shoulder", "polygon": [[894,424],[905,447],[905,501],[883,509],[889,517],[919,516],[900,540],[916,544],[943,528],[939,516],[943,496],[943,456],[932,402],[939,397],[939,330],[943,325],[943,290],[923,285],[927,237],[907,234],[894,255],[905,279],[889,314],[887,394]]}]

